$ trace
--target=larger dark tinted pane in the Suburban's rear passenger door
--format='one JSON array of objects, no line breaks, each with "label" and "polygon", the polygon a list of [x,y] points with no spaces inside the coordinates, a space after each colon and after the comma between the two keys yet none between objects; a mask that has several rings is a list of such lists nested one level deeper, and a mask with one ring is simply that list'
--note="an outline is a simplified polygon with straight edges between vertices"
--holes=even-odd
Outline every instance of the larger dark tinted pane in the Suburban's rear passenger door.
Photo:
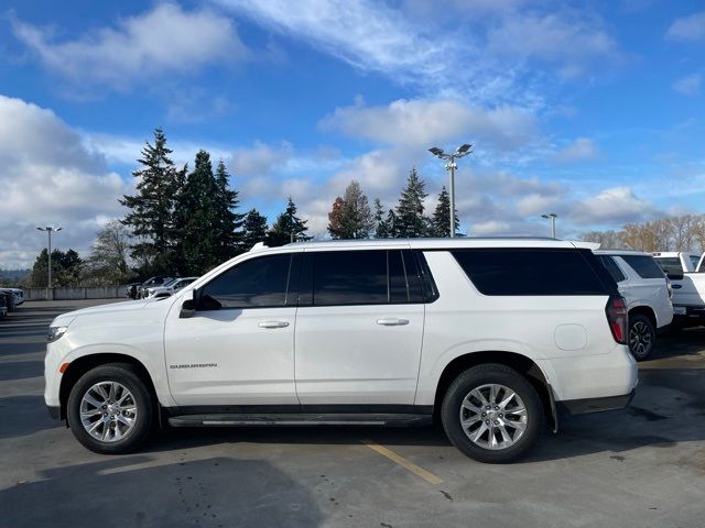
[{"label": "larger dark tinted pane in the Suburban's rear passenger door", "polygon": [[387,304],[387,251],[327,251],[313,257],[313,304]]}]

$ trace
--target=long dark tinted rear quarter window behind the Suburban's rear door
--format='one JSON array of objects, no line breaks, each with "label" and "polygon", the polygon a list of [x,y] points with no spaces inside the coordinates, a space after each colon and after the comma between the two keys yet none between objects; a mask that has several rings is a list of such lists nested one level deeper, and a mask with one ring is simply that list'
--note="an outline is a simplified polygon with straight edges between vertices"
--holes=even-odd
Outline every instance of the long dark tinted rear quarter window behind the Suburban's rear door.
[{"label": "long dark tinted rear quarter window behind the Suburban's rear door", "polygon": [[[592,260],[595,266],[599,266],[589,251],[488,249],[457,250],[453,255],[475,287],[485,295],[608,293],[588,262]],[[609,279],[609,275],[604,275]]]}]

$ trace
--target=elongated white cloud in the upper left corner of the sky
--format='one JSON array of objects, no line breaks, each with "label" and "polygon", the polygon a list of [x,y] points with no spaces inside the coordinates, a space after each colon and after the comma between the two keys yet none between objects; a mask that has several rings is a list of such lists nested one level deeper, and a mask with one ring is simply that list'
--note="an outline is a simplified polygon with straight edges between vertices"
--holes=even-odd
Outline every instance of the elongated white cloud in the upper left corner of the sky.
[{"label": "elongated white cloud in the upper left corner of the sky", "polygon": [[248,52],[230,19],[209,10],[184,11],[159,3],[141,15],[121,19],[75,40],[12,20],[15,36],[41,62],[75,84],[116,89],[163,74],[188,74],[214,63],[242,61]]}]

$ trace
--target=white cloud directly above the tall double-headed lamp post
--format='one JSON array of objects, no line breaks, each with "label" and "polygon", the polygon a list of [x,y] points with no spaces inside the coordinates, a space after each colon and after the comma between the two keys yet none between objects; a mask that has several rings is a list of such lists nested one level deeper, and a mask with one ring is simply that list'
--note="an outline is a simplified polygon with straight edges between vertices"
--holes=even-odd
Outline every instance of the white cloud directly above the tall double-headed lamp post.
[{"label": "white cloud directly above the tall double-headed lamp post", "polygon": [[409,148],[427,148],[473,138],[501,150],[513,150],[538,133],[530,112],[508,106],[469,107],[457,99],[399,99],[384,107],[358,102],[337,108],[322,120],[321,127]]}]

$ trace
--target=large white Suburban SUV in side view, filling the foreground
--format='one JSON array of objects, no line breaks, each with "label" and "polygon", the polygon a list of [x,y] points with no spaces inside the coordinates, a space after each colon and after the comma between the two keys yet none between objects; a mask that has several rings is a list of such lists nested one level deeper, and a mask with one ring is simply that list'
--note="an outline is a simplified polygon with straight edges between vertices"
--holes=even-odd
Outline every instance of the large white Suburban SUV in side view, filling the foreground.
[{"label": "large white Suburban SUV in side view, filling the foreground", "polygon": [[158,300],[51,324],[50,414],[88,449],[180,426],[412,425],[507,462],[547,417],[626,406],[627,314],[594,244],[531,239],[257,249]]}]

